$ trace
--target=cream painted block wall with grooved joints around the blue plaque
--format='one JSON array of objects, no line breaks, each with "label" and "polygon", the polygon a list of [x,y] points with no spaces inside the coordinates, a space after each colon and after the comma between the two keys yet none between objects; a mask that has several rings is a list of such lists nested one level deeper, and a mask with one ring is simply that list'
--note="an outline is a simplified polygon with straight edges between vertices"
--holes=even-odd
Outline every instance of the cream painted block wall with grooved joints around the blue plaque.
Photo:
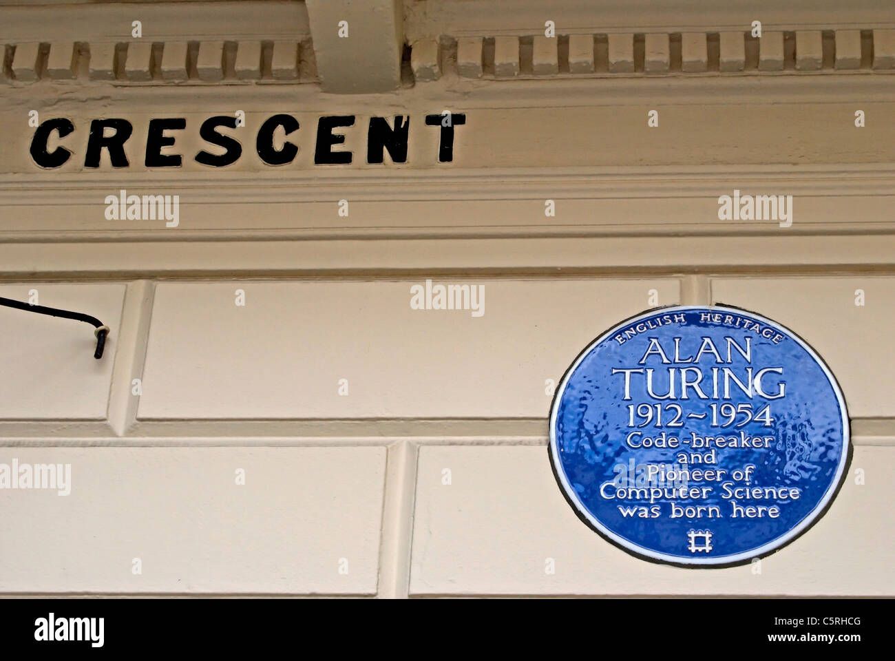
[{"label": "cream painted block wall with grooved joints around the blue plaque", "polygon": [[[96,361],[83,324],[0,308],[15,339],[0,346],[0,461],[72,467],[71,495],[0,494],[0,590],[890,595],[895,282],[700,279],[436,279],[484,287],[481,317],[412,310],[417,278],[4,285],[100,313],[115,334]],[[576,519],[550,473],[546,380],[651,289],[660,305],[766,313],[840,379],[854,475],[760,575],[635,560]]]}]

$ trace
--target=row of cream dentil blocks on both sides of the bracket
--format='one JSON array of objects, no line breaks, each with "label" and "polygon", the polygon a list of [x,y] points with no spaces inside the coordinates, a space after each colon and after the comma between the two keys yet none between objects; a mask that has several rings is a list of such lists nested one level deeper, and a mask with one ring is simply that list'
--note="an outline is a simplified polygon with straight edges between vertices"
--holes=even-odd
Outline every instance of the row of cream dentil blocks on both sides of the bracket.
[{"label": "row of cream dentil blocks on both sides of the bracket", "polygon": [[[444,76],[580,76],[895,71],[895,30],[768,30],[416,39],[405,84]],[[311,39],[29,41],[0,44],[0,82],[319,82]]]}]

